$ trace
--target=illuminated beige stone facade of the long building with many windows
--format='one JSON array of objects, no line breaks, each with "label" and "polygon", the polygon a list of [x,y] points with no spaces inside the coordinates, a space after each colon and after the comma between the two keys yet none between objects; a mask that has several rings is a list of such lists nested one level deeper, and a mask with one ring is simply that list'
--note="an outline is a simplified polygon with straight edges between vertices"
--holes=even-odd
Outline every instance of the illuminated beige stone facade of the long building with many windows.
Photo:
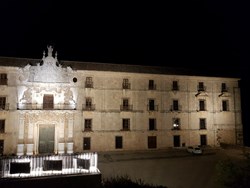
[{"label": "illuminated beige stone facade of the long building with many windows", "polygon": [[62,66],[51,47],[40,61],[1,62],[2,154],[243,142],[238,78],[150,73],[144,66],[138,72],[131,65],[122,65],[125,71]]}]

